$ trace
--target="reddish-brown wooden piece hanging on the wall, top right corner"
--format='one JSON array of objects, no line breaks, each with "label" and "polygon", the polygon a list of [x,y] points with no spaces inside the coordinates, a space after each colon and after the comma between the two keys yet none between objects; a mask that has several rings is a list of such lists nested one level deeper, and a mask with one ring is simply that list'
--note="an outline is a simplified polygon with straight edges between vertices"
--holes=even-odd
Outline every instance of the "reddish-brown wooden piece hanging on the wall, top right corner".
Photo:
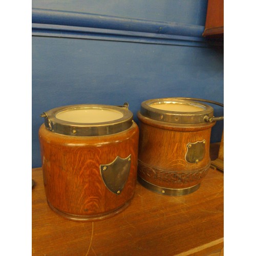
[{"label": "reddish-brown wooden piece hanging on the wall, top right corner", "polygon": [[224,33],[224,0],[208,0],[203,36]]}]

